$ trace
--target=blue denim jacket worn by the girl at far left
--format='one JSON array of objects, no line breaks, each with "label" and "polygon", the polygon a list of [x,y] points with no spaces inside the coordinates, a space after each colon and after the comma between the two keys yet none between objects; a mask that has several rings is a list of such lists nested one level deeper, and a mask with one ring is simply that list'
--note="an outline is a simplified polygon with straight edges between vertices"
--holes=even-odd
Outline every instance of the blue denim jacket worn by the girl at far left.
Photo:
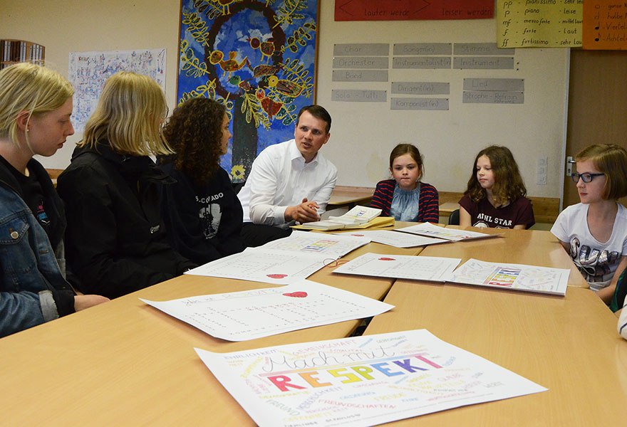
[{"label": "blue denim jacket worn by the girl at far left", "polygon": [[73,312],[73,295],[46,231],[0,164],[0,337]]}]

